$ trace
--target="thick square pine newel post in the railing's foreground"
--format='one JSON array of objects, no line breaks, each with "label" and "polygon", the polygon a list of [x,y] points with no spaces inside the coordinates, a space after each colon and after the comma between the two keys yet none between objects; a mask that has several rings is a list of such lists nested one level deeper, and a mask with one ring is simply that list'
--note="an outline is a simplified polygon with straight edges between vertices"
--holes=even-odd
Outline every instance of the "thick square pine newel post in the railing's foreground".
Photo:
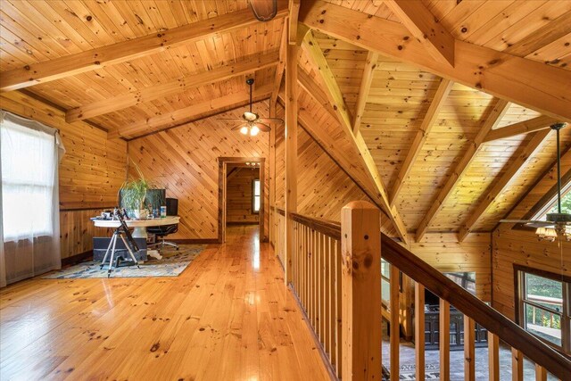
[{"label": "thick square pine newel post in the railing's foreground", "polygon": [[354,201],[341,211],[341,377],[381,380],[381,230],[379,210]]}]

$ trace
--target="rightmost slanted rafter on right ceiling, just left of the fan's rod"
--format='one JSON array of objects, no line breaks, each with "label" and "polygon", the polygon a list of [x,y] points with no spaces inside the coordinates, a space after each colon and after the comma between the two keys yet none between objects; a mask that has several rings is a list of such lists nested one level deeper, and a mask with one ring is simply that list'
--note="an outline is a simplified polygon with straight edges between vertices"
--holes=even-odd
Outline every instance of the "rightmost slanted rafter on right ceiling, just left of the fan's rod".
[{"label": "rightmost slanted rafter on right ceiling, just left of the fan's rod", "polygon": [[492,182],[492,188],[486,191],[484,200],[476,206],[474,211],[470,212],[468,219],[462,224],[458,234],[459,242],[464,241],[464,238],[468,236],[468,233],[472,231],[476,223],[482,219],[485,211],[487,211],[495,199],[501,195],[504,189],[509,186],[511,180],[516,178],[517,174],[523,170],[525,162],[542,146],[542,143],[550,132],[550,129],[542,129],[541,131],[535,132],[534,137],[525,145],[524,150],[517,155],[517,158],[509,164],[509,167],[504,174],[501,175],[501,178]]}]

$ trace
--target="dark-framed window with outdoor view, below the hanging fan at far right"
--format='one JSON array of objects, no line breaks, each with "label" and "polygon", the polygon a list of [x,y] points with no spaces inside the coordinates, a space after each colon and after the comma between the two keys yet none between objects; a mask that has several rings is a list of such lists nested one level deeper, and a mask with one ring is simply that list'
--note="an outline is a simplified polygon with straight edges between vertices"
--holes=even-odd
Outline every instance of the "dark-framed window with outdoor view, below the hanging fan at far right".
[{"label": "dark-framed window with outdoor view, below the hanging fan at far right", "polygon": [[569,279],[517,265],[515,270],[519,325],[547,344],[571,353]]}]

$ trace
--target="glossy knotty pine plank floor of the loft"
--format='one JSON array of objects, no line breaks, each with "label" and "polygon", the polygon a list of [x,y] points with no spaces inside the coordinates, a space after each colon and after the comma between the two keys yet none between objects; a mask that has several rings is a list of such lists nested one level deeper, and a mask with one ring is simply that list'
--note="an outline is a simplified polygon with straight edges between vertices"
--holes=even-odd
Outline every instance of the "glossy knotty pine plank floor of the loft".
[{"label": "glossy knotty pine plank floor of the loft", "polygon": [[32,279],[0,291],[0,379],[328,379],[257,227],[179,277]]}]

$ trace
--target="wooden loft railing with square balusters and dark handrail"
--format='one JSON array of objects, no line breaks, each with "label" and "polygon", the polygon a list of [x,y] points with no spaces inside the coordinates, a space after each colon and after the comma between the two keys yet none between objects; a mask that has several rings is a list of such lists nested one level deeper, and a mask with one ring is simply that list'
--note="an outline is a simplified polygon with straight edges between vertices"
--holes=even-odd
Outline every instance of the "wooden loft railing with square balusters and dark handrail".
[{"label": "wooden loft railing with square balusters and dark handrail", "polygon": [[[352,212],[355,212],[355,203],[352,203]],[[362,206],[363,202],[359,205]],[[349,206],[349,205],[348,205]],[[342,224],[326,219],[315,219],[303,216],[297,213],[290,213],[288,218],[285,219],[285,212],[279,208],[270,207],[270,212],[274,213],[274,226],[276,235],[276,242],[273,244],[276,247],[276,253],[280,253],[279,246],[283,246],[283,232],[285,231],[285,223],[294,224],[294,273],[292,280],[292,290],[300,303],[302,310],[305,312],[308,322],[318,337],[323,352],[326,353],[327,360],[331,366],[333,373],[336,377],[344,379],[371,379],[371,374],[368,372],[349,372],[343,367],[351,367],[352,359],[354,356],[355,348],[352,347],[354,343],[347,343],[347,335],[351,335],[354,330],[362,329],[366,326],[363,320],[371,320],[371,316],[349,315],[351,320],[348,324],[343,325],[346,319],[342,319],[345,310],[355,309],[362,306],[354,306],[354,303],[368,301],[375,299],[370,291],[363,293],[363,295],[348,295],[348,290],[353,288],[358,289],[360,281],[347,277],[346,273],[351,272],[351,269],[343,267],[343,255],[345,261],[350,261],[352,252],[362,253],[362,244],[370,244],[370,242],[355,242],[359,241],[359,235],[355,239],[347,237],[347,232],[351,232],[355,227],[344,226],[345,221],[347,225],[351,225],[352,220],[357,220],[357,224],[361,224],[357,229],[362,230],[362,221],[359,219],[343,218],[343,213],[347,207],[343,208],[343,238],[342,243]],[[357,208],[359,209],[359,208]],[[357,211],[359,212],[359,211]],[[377,222],[374,218],[368,221],[374,226]],[[373,228],[371,227],[371,228]],[[352,230],[353,228],[353,230]],[[378,230],[377,230],[378,231]],[[278,234],[280,232],[281,234]],[[361,235],[363,236],[363,235]],[[367,234],[364,234],[366,239]],[[280,241],[280,239],[282,241]],[[373,240],[375,241],[375,240]],[[342,255],[343,244],[343,255]],[[360,246],[361,244],[361,246]],[[345,251],[347,253],[345,253]],[[415,302],[416,305],[424,304],[424,289],[428,289],[433,294],[438,296],[440,302],[440,364],[441,364],[441,380],[450,379],[450,352],[447,350],[449,343],[447,332],[450,326],[447,327],[447,322],[450,321],[450,307],[453,306],[460,312],[464,313],[464,373],[465,379],[474,380],[476,377],[475,369],[475,326],[476,323],[484,327],[488,331],[488,347],[489,347],[489,369],[490,379],[499,379],[499,343],[503,341],[508,344],[512,349],[512,379],[523,380],[523,359],[524,356],[535,364],[536,380],[545,379],[547,372],[561,380],[571,380],[571,360],[563,356],[559,352],[552,349],[549,345],[542,343],[541,340],[534,335],[529,334],[522,327],[517,326],[512,320],[503,316],[500,312],[494,310],[492,307],[482,302],[473,294],[454,283],[448,277],[445,277],[440,271],[434,269],[425,261],[422,261],[414,253],[401,246],[398,242],[394,241],[391,237],[380,233],[380,244],[377,251],[382,254],[385,261],[391,263],[391,319],[390,322],[398,325],[398,279],[399,271],[406,276],[412,278],[416,283],[415,285]],[[280,254],[280,256],[282,256]],[[378,255],[379,269],[380,257]],[[284,258],[280,258],[284,261]],[[377,258],[375,258],[377,261]],[[348,265],[345,263],[345,265]],[[353,266],[355,266],[353,264]],[[342,273],[343,271],[343,273]],[[366,277],[374,278],[374,274],[366,275]],[[344,284],[343,284],[344,282]],[[362,286],[362,285],[361,285]],[[353,287],[353,288],[352,288]],[[378,274],[378,286],[371,287],[378,289],[378,306],[380,309],[380,271]],[[369,289],[369,288],[368,288]],[[356,297],[357,296],[357,297]],[[359,297],[360,296],[360,297]],[[376,315],[375,311],[374,314]],[[362,314],[371,315],[371,314]],[[396,318],[394,318],[396,316]],[[357,318],[357,319],[355,319]],[[374,317],[368,324],[374,325],[376,334],[380,337],[380,311],[378,311],[378,320]],[[425,348],[424,348],[424,308],[417,308],[415,306],[415,348],[416,348],[416,369],[417,379],[425,379]],[[351,326],[351,327],[347,327]],[[343,334],[344,332],[344,334]],[[348,334],[347,332],[350,332]],[[393,335],[394,333],[394,335]],[[390,353],[391,353],[391,380],[398,380],[399,375],[399,330],[391,329],[390,340]],[[345,335],[345,336],[343,336]],[[345,340],[345,341],[343,341]],[[353,351],[352,353],[345,353],[347,350]],[[381,347],[378,345],[378,358],[380,361]],[[377,356],[375,356],[377,357]],[[354,365],[354,364],[353,364]],[[360,364],[362,365],[362,364]],[[369,366],[371,364],[368,364]],[[455,364],[454,366],[458,366]],[[378,377],[380,379],[380,367],[378,367]],[[347,377],[346,375],[352,375]]]}]

